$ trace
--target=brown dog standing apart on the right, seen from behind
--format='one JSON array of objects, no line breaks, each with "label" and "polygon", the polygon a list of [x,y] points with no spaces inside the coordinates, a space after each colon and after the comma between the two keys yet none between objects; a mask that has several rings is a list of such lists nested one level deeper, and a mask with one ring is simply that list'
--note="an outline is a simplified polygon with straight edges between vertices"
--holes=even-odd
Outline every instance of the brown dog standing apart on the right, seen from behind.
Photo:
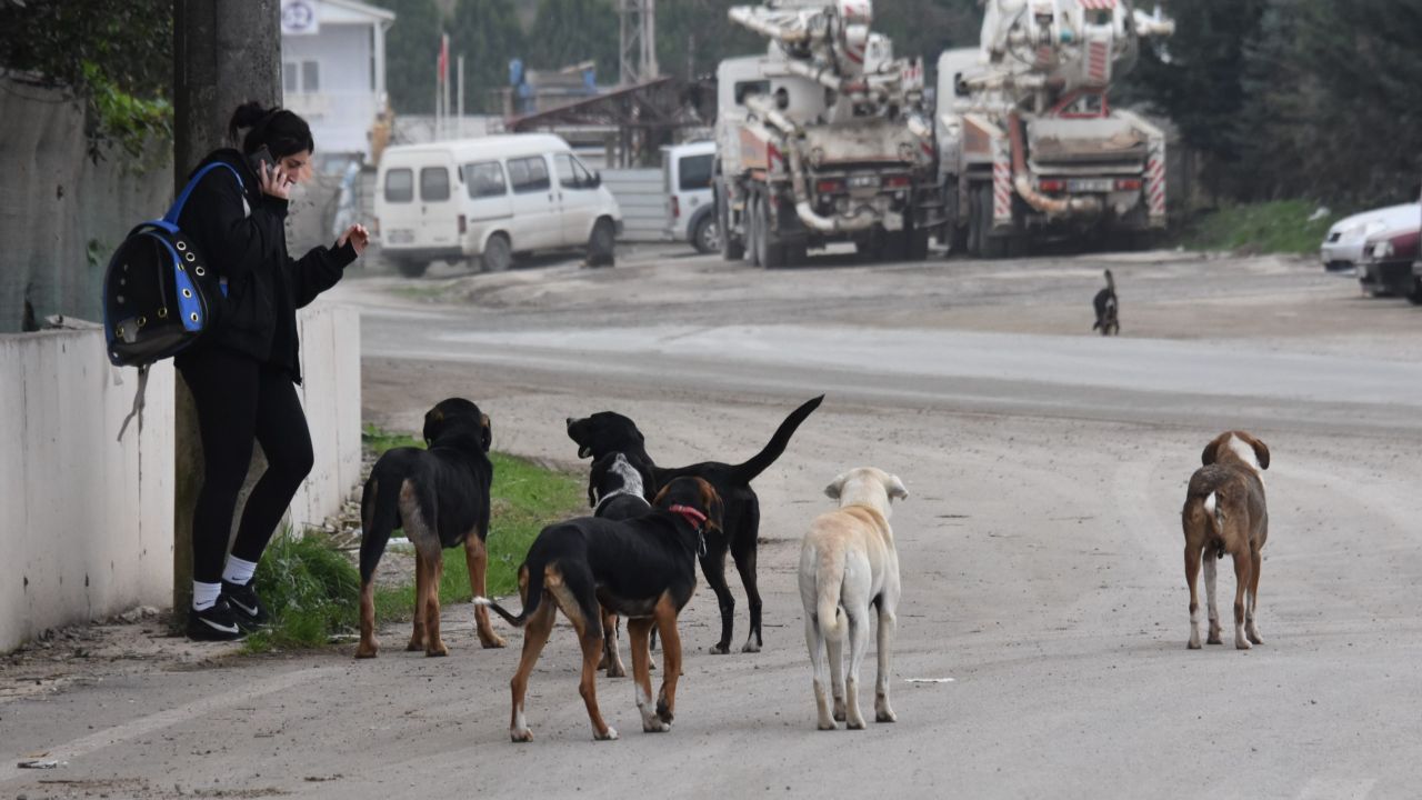
[{"label": "brown dog standing apart on the right, seen from behind", "polygon": [[[1260,549],[1268,538],[1264,481],[1268,447],[1241,431],[1226,431],[1204,446],[1203,467],[1190,475],[1180,518],[1185,525],[1185,582],[1190,586],[1190,649],[1200,648],[1200,602],[1194,578],[1204,558],[1204,595],[1210,605],[1212,645],[1220,642],[1220,614],[1214,608],[1214,561],[1234,557],[1234,646],[1264,643],[1254,626],[1258,602]],[[1247,592],[1247,594],[1246,594]],[[1247,601],[1247,602],[1246,602]]]}]

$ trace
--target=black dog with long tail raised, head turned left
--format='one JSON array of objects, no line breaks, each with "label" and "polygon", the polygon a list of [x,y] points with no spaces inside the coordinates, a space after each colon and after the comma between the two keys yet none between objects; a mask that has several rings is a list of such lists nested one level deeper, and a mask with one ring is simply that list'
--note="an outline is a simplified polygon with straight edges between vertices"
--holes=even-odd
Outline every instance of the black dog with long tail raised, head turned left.
[{"label": "black dog with long tail raised, head turned left", "polygon": [[731,596],[731,586],[725,582],[727,549],[731,551],[735,568],[741,572],[741,584],[745,586],[747,602],[751,606],[751,631],[741,651],[751,653],[761,649],[761,592],[755,586],[755,545],[761,534],[761,501],[755,495],[755,490],[751,488],[751,481],[785,453],[785,446],[789,444],[795,428],[819,407],[822,400],[825,400],[823,394],[791,411],[775,436],[771,437],[769,444],[744,464],[704,461],[671,470],[658,467],[651,456],[647,456],[646,440],[637,430],[637,424],[621,414],[599,411],[582,420],[567,420],[567,436],[577,443],[579,458],[589,456],[602,458],[609,453],[624,454],[627,461],[641,474],[643,488],[647,490],[648,498],[657,487],[667,485],[674,478],[698,477],[707,480],[725,502],[724,530],[707,535],[707,552],[701,557],[701,572],[707,577],[707,584],[711,585],[717,604],[721,606],[721,641],[711,648],[712,653],[731,651],[731,629],[735,621],[735,598]]}]

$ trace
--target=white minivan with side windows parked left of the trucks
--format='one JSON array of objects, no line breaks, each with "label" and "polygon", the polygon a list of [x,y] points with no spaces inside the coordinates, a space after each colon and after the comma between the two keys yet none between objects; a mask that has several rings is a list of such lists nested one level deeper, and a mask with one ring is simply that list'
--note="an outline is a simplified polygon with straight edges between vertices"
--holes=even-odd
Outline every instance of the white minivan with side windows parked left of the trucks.
[{"label": "white minivan with side windows parked left of the trucks", "polygon": [[610,265],[621,211],[560,137],[509,134],[385,148],[375,177],[381,255],[418,278],[434,260],[502,272],[513,253],[586,248]]}]

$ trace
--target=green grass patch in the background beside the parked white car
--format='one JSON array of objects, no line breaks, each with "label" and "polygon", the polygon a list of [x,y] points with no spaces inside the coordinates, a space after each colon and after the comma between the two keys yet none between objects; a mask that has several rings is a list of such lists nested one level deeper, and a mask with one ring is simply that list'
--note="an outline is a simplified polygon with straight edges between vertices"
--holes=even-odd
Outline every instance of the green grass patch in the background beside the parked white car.
[{"label": "green grass patch in the background beside the parked white car", "polygon": [[1318,251],[1340,214],[1310,221],[1318,204],[1271,201],[1224,205],[1194,221],[1182,243],[1192,251],[1307,255]]}]

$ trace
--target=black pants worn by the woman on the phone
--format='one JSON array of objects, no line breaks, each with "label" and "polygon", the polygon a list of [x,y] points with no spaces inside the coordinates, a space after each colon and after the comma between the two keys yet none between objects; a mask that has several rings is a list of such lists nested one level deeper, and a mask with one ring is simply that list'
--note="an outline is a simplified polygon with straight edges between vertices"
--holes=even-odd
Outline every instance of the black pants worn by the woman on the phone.
[{"label": "black pants worn by the woman on the phone", "polygon": [[182,376],[198,406],[205,468],[192,514],[192,577],[216,584],[222,579],[237,493],[252,461],[252,443],[262,444],[267,470],[247,495],[232,555],[257,562],[311,471],[311,433],[284,370],[223,347],[185,362]]}]

